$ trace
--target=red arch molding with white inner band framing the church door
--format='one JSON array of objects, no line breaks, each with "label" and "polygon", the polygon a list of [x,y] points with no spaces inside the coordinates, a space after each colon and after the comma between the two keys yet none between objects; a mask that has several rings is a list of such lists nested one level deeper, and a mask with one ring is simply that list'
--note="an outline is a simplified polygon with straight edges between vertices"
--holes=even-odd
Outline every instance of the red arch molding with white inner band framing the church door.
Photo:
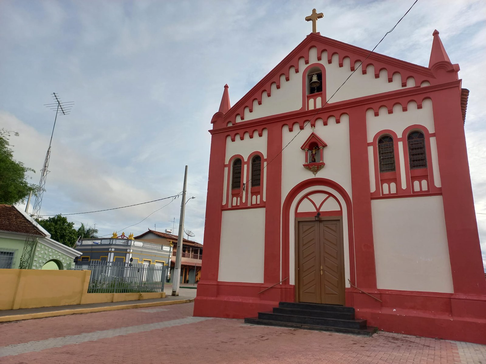
[{"label": "red arch molding with white inner band framing the church door", "polygon": [[[353,213],[352,213],[352,203],[346,190],[338,183],[328,180],[326,178],[312,178],[309,180],[302,181],[295,185],[294,188],[287,194],[283,205],[282,205],[282,232],[281,232],[281,279],[285,277],[294,277],[290,280],[290,284],[295,283],[294,271],[291,273],[291,251],[290,243],[291,239],[294,241],[294,219],[295,219],[295,208],[297,204],[305,198],[305,195],[312,192],[322,191],[323,193],[330,194],[336,200],[339,201],[340,207],[342,209],[343,215],[343,232],[346,229],[348,244],[345,246],[345,257],[346,251],[348,253],[348,261],[345,258],[345,272],[346,277],[350,279],[351,283],[356,284],[355,276],[355,256],[354,256],[354,235],[353,235]],[[344,218],[346,217],[346,218]],[[347,227],[345,226],[347,225]],[[346,240],[345,240],[346,241]],[[295,241],[294,241],[295,244]],[[293,255],[293,252],[292,252]],[[292,264],[293,265],[293,264]],[[347,286],[348,283],[346,282]]]}]

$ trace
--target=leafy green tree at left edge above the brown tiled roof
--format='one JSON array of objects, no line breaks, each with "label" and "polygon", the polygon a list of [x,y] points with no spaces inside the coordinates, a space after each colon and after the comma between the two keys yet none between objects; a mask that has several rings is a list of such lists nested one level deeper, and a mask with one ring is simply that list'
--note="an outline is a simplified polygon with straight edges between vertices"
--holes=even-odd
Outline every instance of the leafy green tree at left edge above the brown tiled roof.
[{"label": "leafy green tree at left edge above the brown tiled roof", "polygon": [[23,202],[31,189],[35,190],[26,176],[28,171],[35,170],[14,159],[9,143],[11,133],[18,136],[18,132],[0,129],[0,203],[15,205]]}]

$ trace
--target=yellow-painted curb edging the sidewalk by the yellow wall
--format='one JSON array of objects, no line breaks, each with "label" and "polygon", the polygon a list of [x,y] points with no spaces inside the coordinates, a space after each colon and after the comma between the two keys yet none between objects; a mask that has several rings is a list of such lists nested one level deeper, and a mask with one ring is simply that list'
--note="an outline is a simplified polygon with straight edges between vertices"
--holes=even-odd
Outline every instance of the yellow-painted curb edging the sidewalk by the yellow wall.
[{"label": "yellow-painted curb edging the sidewalk by the yellow wall", "polygon": [[71,309],[71,310],[37,312],[37,313],[33,313],[33,314],[14,314],[14,315],[10,315],[10,316],[0,316],[0,322],[30,320],[31,318],[65,316],[65,315],[68,315],[68,314],[89,314],[89,313],[92,313],[92,312],[127,310],[127,309],[130,309],[130,308],[168,306],[168,305],[176,305],[176,304],[179,304],[179,303],[188,303],[188,302],[194,302],[194,298],[177,299],[177,300],[174,300],[174,301],[163,301],[163,302],[132,303],[132,304],[129,304],[129,305],[76,308],[76,309]]}]

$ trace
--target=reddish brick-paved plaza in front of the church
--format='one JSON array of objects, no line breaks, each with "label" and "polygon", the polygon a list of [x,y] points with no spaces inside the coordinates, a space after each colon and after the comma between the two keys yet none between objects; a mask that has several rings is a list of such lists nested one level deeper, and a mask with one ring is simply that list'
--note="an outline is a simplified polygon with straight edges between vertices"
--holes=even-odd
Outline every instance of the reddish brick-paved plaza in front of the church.
[{"label": "reddish brick-paved plaza in front of the church", "polygon": [[486,364],[486,346],[192,317],[193,303],[0,324],[0,363]]}]

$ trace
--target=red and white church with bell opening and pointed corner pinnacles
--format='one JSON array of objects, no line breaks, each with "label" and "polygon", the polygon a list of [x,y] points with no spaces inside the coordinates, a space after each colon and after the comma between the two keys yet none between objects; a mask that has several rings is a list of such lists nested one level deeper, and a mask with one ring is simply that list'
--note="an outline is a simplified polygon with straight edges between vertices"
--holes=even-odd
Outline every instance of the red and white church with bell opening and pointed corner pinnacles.
[{"label": "red and white church with bell opening and pointed corner pinnacles", "polygon": [[437,31],[428,67],[368,54],[314,32],[232,107],[225,86],[194,315],[337,304],[486,344],[459,66]]}]

